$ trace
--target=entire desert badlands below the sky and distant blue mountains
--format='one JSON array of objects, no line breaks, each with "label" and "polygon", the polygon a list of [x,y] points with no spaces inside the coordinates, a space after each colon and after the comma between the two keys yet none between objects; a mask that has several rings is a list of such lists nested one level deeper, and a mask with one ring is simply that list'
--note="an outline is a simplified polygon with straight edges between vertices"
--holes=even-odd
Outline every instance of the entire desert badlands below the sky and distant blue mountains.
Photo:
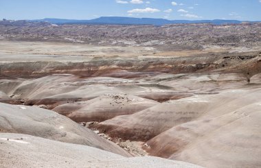
[{"label": "entire desert badlands below the sky and distant blue mountains", "polygon": [[261,25],[0,21],[0,167],[261,167]]}]

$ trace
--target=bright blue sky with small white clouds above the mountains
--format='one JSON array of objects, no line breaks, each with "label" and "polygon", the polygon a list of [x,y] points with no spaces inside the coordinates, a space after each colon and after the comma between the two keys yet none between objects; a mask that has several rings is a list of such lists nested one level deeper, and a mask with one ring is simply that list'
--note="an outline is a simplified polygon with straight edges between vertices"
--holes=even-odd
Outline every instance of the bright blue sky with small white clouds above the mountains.
[{"label": "bright blue sky with small white clouds above the mountains", "polygon": [[261,0],[0,0],[0,19],[100,16],[261,21]]}]

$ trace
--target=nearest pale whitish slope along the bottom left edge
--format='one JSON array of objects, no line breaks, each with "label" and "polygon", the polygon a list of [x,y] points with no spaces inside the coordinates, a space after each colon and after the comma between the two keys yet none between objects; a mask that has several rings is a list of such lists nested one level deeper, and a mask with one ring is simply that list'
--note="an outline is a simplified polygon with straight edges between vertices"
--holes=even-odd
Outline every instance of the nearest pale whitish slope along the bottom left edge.
[{"label": "nearest pale whitish slope along the bottom left edge", "polygon": [[2,133],[0,142],[1,167],[200,168],[190,163],[156,157],[126,158],[95,147],[60,143],[27,134]]}]

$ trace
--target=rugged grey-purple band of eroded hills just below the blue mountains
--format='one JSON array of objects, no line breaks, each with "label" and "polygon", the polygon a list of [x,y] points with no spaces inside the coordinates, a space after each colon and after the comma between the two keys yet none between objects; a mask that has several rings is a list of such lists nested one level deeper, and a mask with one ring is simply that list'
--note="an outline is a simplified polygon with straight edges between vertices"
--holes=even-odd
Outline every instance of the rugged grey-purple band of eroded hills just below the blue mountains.
[{"label": "rugged grey-purple band of eroded hills just below the blue mountains", "polygon": [[159,46],[166,50],[204,49],[208,45],[260,46],[261,23],[214,25],[54,25],[0,21],[0,38],[91,45]]}]

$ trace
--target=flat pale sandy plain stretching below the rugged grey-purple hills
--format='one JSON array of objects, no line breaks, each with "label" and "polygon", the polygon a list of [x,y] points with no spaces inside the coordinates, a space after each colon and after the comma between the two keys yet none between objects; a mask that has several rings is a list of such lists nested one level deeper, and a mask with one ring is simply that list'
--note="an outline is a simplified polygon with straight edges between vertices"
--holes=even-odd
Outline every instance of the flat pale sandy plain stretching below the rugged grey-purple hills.
[{"label": "flat pale sandy plain stretching below the rugged grey-purple hills", "polygon": [[82,62],[93,57],[183,57],[195,56],[204,53],[218,52],[247,52],[259,51],[261,47],[219,47],[206,45],[202,50],[166,51],[158,47],[121,47],[121,46],[93,46],[78,43],[48,43],[48,42],[24,42],[6,41],[0,43],[1,62],[34,62],[34,61],[59,61],[59,62]]}]

